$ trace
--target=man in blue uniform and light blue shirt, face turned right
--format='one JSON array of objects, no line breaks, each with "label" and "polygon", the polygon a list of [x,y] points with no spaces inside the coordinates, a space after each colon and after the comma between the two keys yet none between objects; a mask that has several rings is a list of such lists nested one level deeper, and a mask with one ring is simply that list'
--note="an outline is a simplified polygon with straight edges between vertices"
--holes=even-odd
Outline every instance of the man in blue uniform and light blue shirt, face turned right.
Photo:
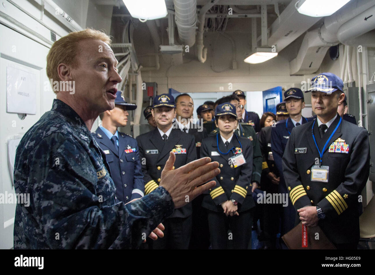
[{"label": "man in blue uniform and light blue shirt, face turned right", "polygon": [[126,103],[121,91],[117,91],[115,108],[100,115],[102,126],[92,133],[106,154],[111,177],[116,186],[116,199],[125,203],[144,196],[144,180],[137,142],[133,137],[117,131],[117,127],[126,126],[129,115],[127,111],[136,108],[136,105]]}]

